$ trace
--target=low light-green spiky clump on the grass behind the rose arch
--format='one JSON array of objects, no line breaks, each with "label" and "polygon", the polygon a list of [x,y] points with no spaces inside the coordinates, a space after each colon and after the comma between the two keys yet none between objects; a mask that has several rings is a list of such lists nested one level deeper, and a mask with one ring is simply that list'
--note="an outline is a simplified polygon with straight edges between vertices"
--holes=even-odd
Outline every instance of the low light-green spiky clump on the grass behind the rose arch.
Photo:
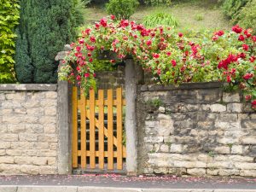
[{"label": "low light-green spiky clump on the grass behind the rose arch", "polygon": [[163,12],[156,12],[154,14],[148,15],[143,19],[143,25],[147,27],[155,27],[155,26],[178,26],[177,19]]}]

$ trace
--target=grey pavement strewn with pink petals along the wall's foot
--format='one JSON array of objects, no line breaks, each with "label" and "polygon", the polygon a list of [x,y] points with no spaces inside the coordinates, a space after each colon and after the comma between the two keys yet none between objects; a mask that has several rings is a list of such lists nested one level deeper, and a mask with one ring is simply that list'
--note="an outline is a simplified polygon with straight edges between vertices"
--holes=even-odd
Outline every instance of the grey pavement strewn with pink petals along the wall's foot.
[{"label": "grey pavement strewn with pink petals along the wall's foot", "polygon": [[[256,178],[245,177],[175,177],[175,176],[138,176],[128,177],[119,174],[84,175],[37,175],[37,176],[0,176],[0,192],[9,192],[8,187],[25,186],[36,188],[32,191],[43,192],[43,187],[66,187],[67,191],[79,191],[79,187],[90,189],[81,191],[255,191]],[[72,188],[73,187],[73,188]],[[50,187],[52,188],[52,187]],[[81,189],[82,189],[81,188]],[[2,190],[1,190],[2,189]],[[5,189],[5,190],[3,190]],[[59,188],[61,189],[61,188]],[[66,191],[61,189],[61,192]],[[104,189],[104,190],[100,190]],[[130,190],[131,189],[131,190]],[[149,190],[150,189],[150,190]],[[153,190],[154,189],[154,190]],[[181,190],[183,189],[183,190]],[[198,189],[198,190],[195,190]],[[225,189],[225,190],[224,190]],[[15,190],[29,191],[29,190]],[[51,191],[51,190],[45,190]],[[53,191],[59,191],[55,189]]]}]

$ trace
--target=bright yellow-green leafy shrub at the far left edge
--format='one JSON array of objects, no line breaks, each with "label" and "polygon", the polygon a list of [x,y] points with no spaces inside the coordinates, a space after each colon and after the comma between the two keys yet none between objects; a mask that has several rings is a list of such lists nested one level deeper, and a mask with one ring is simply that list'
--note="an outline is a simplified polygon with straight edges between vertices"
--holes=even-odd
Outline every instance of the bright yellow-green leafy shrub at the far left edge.
[{"label": "bright yellow-green leafy shrub at the far left edge", "polygon": [[0,0],[0,84],[15,82],[15,26],[19,20],[19,4]]}]

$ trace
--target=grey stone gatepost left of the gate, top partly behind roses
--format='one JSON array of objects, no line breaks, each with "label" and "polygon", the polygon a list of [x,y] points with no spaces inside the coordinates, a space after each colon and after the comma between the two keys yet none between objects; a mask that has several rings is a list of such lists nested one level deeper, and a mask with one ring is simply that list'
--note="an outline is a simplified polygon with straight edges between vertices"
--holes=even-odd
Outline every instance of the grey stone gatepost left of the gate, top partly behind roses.
[{"label": "grey stone gatepost left of the gate, top partly behind roses", "polygon": [[[61,61],[65,58],[66,51],[70,50],[66,45],[64,51],[56,55],[55,60]],[[58,130],[59,130],[59,150],[58,150],[58,173],[70,174],[72,172],[72,152],[71,152],[71,85],[67,81],[58,81]]]}]

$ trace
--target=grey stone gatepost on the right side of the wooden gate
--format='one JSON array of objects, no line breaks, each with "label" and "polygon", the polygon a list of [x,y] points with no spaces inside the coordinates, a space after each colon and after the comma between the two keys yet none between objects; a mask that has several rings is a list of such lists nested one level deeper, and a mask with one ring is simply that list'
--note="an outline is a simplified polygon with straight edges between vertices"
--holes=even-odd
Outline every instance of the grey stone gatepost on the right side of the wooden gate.
[{"label": "grey stone gatepost on the right side of the wooden gate", "polygon": [[143,71],[132,59],[125,61],[125,131],[126,131],[126,171],[137,174],[137,84],[142,83]]}]

